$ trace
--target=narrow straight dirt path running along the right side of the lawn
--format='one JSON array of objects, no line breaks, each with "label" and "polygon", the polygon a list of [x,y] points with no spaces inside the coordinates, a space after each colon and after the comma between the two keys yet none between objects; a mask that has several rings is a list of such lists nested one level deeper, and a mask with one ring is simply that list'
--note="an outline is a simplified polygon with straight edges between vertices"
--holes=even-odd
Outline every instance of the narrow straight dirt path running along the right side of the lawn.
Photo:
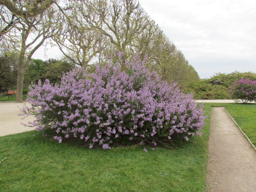
[{"label": "narrow straight dirt path running along the right side of the lawn", "polygon": [[256,191],[256,151],[218,107],[211,110],[209,156],[207,191]]}]

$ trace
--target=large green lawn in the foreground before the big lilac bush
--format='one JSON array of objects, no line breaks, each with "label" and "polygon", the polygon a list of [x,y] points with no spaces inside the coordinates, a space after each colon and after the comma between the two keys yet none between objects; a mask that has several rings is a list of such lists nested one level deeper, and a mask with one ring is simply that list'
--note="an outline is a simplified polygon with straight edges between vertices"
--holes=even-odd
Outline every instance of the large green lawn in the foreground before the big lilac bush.
[{"label": "large green lawn in the foreground before the big lilac bush", "polygon": [[[206,105],[206,114],[211,106]],[[171,148],[92,149],[42,138],[0,137],[0,191],[203,192],[209,118],[194,142]]]}]

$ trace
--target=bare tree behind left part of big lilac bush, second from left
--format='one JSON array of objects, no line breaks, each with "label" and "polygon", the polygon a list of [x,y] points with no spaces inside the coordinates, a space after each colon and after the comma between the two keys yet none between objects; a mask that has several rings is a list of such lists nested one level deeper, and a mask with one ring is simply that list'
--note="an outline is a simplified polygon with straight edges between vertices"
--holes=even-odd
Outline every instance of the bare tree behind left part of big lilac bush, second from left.
[{"label": "bare tree behind left part of big lilac bush, second from left", "polygon": [[[107,39],[99,31],[89,26],[83,18],[88,10],[80,1],[66,1],[66,8],[60,8],[64,17],[59,21],[61,32],[52,39],[69,60],[87,68],[92,58],[106,48]],[[93,13],[91,13],[92,15]]]}]

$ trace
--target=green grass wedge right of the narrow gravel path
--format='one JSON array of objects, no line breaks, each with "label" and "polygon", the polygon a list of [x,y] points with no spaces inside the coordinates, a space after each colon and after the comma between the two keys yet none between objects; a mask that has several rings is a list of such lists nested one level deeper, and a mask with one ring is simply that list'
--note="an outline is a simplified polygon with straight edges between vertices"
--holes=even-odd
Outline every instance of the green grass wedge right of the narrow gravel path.
[{"label": "green grass wedge right of the narrow gravel path", "polygon": [[233,105],[226,110],[256,146],[256,104]]}]

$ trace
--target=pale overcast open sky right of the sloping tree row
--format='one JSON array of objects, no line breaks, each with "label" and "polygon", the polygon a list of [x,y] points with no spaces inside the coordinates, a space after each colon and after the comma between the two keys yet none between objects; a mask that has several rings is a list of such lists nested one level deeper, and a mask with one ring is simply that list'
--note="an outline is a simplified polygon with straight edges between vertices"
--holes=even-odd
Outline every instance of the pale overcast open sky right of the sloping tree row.
[{"label": "pale overcast open sky right of the sloping tree row", "polygon": [[[200,78],[256,73],[256,0],[139,0]],[[42,48],[34,58],[42,57]],[[58,52],[48,50],[48,58]]]}]

